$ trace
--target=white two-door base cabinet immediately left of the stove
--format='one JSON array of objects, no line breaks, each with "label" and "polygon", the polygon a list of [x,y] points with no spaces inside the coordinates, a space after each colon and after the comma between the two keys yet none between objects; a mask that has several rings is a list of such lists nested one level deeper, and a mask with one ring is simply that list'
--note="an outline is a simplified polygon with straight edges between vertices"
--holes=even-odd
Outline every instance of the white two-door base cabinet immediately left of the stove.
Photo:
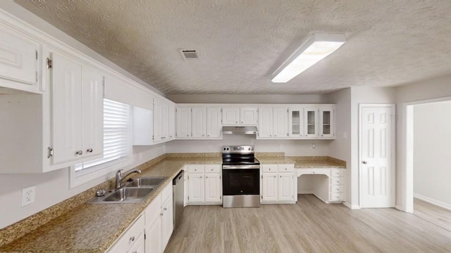
[{"label": "white two-door base cabinet immediately left of the stove", "polygon": [[221,164],[191,164],[187,167],[187,205],[221,205]]}]

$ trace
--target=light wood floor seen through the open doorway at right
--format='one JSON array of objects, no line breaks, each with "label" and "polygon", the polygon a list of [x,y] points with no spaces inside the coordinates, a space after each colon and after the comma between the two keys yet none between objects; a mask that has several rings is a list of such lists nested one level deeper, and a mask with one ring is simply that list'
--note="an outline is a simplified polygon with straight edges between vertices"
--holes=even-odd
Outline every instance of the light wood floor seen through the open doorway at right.
[{"label": "light wood floor seen through the open doorway at right", "polygon": [[432,205],[424,200],[414,198],[414,214],[419,218],[434,223],[451,231],[451,210]]}]

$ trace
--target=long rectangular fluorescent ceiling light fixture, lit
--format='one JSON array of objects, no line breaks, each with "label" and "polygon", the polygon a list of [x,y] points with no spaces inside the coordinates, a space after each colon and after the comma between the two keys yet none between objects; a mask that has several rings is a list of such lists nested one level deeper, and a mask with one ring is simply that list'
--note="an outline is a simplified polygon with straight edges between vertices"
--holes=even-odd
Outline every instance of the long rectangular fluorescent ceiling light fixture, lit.
[{"label": "long rectangular fluorescent ceiling light fixture, lit", "polygon": [[313,34],[272,74],[273,83],[286,83],[345,44],[345,34]]}]

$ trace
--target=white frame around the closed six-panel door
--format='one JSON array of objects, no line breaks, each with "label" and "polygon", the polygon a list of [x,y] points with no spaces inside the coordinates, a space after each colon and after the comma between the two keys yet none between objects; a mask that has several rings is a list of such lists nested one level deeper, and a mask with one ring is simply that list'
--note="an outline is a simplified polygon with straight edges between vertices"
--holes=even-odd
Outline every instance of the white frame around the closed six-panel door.
[{"label": "white frame around the closed six-panel door", "polygon": [[392,138],[391,138],[391,179],[390,179],[390,188],[392,189],[391,192],[391,202],[392,206],[395,207],[396,203],[396,105],[394,103],[359,103],[359,206],[362,207],[362,192],[363,192],[363,179],[362,179],[362,110],[363,108],[391,108],[392,112],[392,125],[391,125],[391,131],[392,131]]}]

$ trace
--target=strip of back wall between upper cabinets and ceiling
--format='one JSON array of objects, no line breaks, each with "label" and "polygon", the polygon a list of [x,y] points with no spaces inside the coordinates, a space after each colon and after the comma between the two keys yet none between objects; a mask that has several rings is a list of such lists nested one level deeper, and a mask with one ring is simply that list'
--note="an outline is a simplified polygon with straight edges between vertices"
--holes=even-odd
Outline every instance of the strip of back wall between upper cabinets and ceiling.
[{"label": "strip of back wall between upper cabinets and ceiling", "polygon": [[167,94],[175,103],[326,103],[323,95]]}]

